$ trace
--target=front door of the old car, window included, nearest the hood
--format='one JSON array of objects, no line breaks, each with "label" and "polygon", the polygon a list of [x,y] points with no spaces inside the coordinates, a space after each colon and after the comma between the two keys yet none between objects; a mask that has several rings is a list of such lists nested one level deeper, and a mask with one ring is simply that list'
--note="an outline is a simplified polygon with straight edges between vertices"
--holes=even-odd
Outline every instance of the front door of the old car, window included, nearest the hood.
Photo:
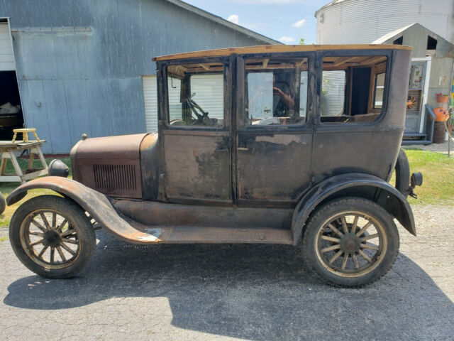
[{"label": "front door of the old car, window included, nearest the hood", "polygon": [[161,67],[160,134],[170,202],[232,202],[227,58]]}]

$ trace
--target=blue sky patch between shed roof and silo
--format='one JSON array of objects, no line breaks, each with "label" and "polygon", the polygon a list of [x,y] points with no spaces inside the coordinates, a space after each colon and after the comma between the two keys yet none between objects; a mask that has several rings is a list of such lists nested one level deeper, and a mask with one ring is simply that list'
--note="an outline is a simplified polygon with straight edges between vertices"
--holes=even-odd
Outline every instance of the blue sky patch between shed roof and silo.
[{"label": "blue sky patch between shed roof and silo", "polygon": [[316,42],[315,12],[331,0],[184,0],[286,44]]}]

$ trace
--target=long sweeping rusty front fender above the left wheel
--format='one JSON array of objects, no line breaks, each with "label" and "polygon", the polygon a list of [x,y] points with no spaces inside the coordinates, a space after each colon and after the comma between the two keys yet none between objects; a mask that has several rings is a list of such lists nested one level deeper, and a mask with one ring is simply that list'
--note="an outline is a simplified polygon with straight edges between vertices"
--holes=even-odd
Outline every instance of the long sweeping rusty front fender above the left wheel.
[{"label": "long sweeping rusty front fender above the left wheel", "polygon": [[121,217],[106,195],[67,178],[46,176],[31,180],[19,186],[16,190],[13,190],[6,197],[6,203],[13,205],[21,200],[27,194],[28,190],[34,190],[36,188],[53,190],[65,197],[69,197],[74,202],[77,202],[83,210],[87,211],[101,227],[104,227],[108,232],[111,232],[111,234],[126,242],[147,244],[150,239],[149,234],[138,231],[127,220]]}]

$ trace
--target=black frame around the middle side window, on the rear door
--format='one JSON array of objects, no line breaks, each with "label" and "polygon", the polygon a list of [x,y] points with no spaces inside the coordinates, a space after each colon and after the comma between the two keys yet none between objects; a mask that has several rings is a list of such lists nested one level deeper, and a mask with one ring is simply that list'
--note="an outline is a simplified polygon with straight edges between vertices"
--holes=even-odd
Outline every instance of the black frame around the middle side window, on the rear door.
[{"label": "black frame around the middle side window, on the rear door", "polygon": [[[310,97],[312,95],[311,93],[311,84],[314,82],[314,77],[311,77],[311,75],[315,75],[315,72],[311,72],[311,68],[314,67],[314,58],[315,58],[315,53],[311,52],[304,52],[304,53],[260,53],[260,54],[248,54],[248,55],[239,55],[238,58],[243,59],[243,63],[237,63],[242,64],[243,67],[241,67],[241,70],[237,70],[238,72],[241,72],[242,77],[237,78],[237,85],[240,91],[243,93],[240,95],[238,94],[239,98],[243,99],[243,102],[238,103],[238,111],[237,111],[237,124],[236,124],[236,129],[237,131],[294,131],[294,130],[306,130],[308,126],[311,123],[311,109],[309,109],[309,104],[310,104]],[[306,58],[307,59],[307,96],[306,96],[306,120],[302,124],[275,124],[275,125],[267,125],[267,126],[259,126],[259,125],[246,125],[245,124],[245,118],[248,116],[246,113],[246,86],[247,86],[247,75],[248,73],[255,73],[255,72],[270,72],[270,70],[253,70],[251,72],[246,72],[246,61],[248,59],[257,59],[257,58],[270,58],[270,59],[285,59],[285,58]],[[292,69],[288,69],[292,70]],[[294,70],[294,69],[293,69]],[[300,71],[301,72],[301,71]],[[300,75],[301,77],[301,75]],[[243,81],[241,81],[241,78]],[[242,84],[240,84],[240,82]],[[297,89],[297,103],[298,106],[300,106],[300,88]],[[296,103],[295,103],[296,105]]]}]

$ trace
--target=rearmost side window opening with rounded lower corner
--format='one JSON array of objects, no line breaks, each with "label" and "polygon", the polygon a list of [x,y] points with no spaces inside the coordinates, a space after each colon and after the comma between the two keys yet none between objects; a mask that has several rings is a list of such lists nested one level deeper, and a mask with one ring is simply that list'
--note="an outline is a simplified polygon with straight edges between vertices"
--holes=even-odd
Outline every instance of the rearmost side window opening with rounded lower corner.
[{"label": "rearmost side window opening with rounded lower corner", "polygon": [[368,123],[382,114],[387,57],[323,58],[321,122]]}]

